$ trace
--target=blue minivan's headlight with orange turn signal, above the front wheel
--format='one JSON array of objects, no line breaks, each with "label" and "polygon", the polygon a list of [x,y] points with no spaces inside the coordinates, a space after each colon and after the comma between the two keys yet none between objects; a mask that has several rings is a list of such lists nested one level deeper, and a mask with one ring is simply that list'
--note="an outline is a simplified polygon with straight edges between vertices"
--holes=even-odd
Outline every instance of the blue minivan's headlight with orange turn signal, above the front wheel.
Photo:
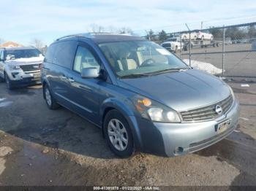
[{"label": "blue minivan's headlight with orange turn signal, above the front wheel", "polygon": [[176,111],[157,103],[157,101],[136,95],[132,98],[132,102],[140,112],[141,117],[145,119],[154,122],[181,122]]}]

